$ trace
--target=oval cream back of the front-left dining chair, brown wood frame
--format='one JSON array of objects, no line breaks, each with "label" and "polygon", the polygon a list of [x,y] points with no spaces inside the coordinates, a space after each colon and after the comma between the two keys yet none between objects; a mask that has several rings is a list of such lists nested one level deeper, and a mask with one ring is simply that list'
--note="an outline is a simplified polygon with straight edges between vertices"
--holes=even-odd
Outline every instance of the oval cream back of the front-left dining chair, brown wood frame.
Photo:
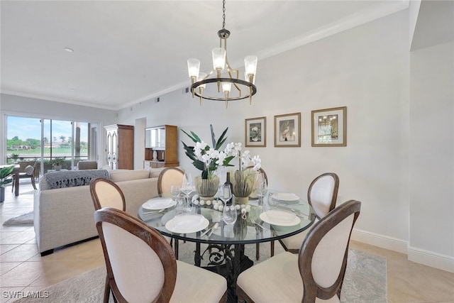
[{"label": "oval cream back of the front-left dining chair, brown wood frame", "polygon": [[117,301],[170,302],[177,262],[165,238],[118,209],[100,209],[94,218]]}]

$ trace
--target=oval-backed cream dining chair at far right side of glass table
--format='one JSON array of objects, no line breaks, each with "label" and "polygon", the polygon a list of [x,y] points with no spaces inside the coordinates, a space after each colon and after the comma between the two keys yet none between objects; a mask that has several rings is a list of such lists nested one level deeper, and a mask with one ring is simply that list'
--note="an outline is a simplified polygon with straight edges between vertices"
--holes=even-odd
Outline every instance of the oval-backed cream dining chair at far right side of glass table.
[{"label": "oval-backed cream dining chair at far right side of glass table", "polygon": [[[339,177],[334,172],[319,175],[311,182],[307,191],[307,201],[314,209],[316,219],[320,220],[336,207],[338,189]],[[309,229],[306,229],[306,231],[301,231],[295,236],[279,239],[279,243],[284,250],[290,253],[298,253],[308,232]],[[274,255],[274,247],[272,247],[271,255]]]}]

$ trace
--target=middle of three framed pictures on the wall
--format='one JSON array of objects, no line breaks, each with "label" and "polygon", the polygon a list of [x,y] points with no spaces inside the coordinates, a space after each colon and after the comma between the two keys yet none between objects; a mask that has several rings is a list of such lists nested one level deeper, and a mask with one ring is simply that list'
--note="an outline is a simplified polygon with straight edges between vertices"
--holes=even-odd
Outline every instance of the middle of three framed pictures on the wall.
[{"label": "middle of three framed pictures on the wall", "polygon": [[301,147],[301,113],[275,116],[275,148]]}]

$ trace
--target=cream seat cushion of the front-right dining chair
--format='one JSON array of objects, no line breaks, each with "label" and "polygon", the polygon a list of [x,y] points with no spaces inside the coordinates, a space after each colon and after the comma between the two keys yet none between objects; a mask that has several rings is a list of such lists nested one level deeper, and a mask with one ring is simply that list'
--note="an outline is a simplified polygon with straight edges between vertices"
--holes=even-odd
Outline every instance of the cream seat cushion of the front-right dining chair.
[{"label": "cream seat cushion of the front-right dining chair", "polygon": [[[253,282],[251,282],[253,281]],[[284,252],[241,272],[237,285],[254,302],[301,302],[303,280],[299,274],[298,255]],[[340,303],[335,295],[316,302]]]}]

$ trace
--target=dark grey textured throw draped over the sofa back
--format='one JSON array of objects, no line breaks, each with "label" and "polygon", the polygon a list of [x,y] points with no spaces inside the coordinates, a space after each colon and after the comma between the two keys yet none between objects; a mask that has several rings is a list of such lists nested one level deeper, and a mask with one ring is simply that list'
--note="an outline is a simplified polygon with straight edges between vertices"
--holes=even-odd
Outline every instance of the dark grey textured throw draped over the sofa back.
[{"label": "dark grey textured throw draped over the sofa back", "polygon": [[[43,177],[45,182],[43,182],[43,180],[40,182],[40,190],[89,185],[90,181],[97,177],[109,179],[109,172],[107,170],[48,172]],[[45,187],[45,185],[47,185],[47,187]]]}]

